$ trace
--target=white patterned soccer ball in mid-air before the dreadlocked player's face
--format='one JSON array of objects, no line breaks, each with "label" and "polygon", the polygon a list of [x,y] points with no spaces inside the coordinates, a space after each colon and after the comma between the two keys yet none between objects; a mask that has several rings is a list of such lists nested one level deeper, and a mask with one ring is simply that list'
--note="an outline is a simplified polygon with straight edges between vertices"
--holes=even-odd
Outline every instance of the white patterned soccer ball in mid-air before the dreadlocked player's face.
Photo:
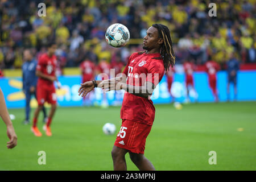
[{"label": "white patterned soccer ball in mid-air before the dreadlocked player's face", "polygon": [[106,42],[113,47],[122,47],[130,40],[130,32],[121,23],[114,23],[106,30]]}]

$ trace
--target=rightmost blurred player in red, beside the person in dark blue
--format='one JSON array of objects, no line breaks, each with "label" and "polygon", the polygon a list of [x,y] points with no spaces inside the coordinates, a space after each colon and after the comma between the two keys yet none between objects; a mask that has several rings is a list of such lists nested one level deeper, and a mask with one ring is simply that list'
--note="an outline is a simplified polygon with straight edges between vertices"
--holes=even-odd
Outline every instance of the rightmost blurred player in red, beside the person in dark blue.
[{"label": "rightmost blurred player in red, beside the person in dark blue", "polygon": [[220,70],[220,65],[215,61],[209,60],[205,63],[205,69],[208,73],[209,86],[212,89],[215,102],[218,102],[218,93],[217,93],[217,71]]}]

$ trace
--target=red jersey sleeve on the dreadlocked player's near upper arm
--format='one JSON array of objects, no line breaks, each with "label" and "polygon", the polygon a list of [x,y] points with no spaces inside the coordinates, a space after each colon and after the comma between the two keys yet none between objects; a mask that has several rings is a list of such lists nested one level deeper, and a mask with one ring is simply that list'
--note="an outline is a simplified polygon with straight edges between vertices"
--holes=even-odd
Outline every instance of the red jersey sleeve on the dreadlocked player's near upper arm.
[{"label": "red jersey sleeve on the dreadlocked player's near upper arm", "polygon": [[164,65],[160,61],[154,61],[147,68],[146,82],[152,82],[155,86],[159,84],[164,75]]}]

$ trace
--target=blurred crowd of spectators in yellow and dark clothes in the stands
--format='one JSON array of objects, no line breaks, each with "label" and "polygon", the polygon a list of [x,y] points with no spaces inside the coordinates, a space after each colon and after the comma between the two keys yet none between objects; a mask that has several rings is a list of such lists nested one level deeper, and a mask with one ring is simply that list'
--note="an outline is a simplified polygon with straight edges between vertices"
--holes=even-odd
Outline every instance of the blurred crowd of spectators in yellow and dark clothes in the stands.
[{"label": "blurred crowd of spectators in yellow and dark clothes in the stands", "polygon": [[[46,4],[39,17],[38,4]],[[89,59],[99,63],[121,60],[142,50],[142,38],[154,23],[171,30],[176,64],[208,60],[224,65],[234,53],[242,63],[256,63],[255,0],[214,1],[217,16],[210,17],[210,1],[203,0],[0,0],[0,69],[20,68],[22,52],[31,48],[35,56],[46,52],[46,43],[57,43],[60,68],[78,67]],[[113,23],[129,28],[126,47],[113,48],[105,31]],[[141,40],[139,40],[141,39]],[[222,67],[224,69],[224,67]]]}]

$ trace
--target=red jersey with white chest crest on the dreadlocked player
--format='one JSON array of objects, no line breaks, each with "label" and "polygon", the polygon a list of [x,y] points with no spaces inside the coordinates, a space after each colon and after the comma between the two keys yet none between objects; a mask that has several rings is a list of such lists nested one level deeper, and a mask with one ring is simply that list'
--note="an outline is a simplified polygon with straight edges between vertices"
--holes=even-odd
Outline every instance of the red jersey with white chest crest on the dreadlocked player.
[{"label": "red jersey with white chest crest on the dreadlocked player", "polygon": [[[153,59],[154,57],[160,57],[160,53],[133,53],[123,71],[127,76],[126,83],[142,86],[146,81],[150,81],[156,86],[163,78],[164,64],[162,59]],[[143,74],[144,78],[141,77]],[[152,125],[155,119],[153,102],[148,98],[125,92],[121,118]]]}]

